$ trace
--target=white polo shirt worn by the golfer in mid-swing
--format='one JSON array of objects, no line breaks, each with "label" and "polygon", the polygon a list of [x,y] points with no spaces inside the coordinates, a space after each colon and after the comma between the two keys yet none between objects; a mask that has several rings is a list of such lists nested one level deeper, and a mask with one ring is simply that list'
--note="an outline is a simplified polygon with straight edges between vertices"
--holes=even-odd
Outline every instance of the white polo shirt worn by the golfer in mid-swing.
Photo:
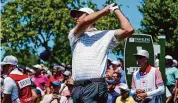
[{"label": "white polo shirt worn by the golfer in mid-swing", "polygon": [[104,78],[108,51],[117,46],[115,30],[85,32],[76,38],[69,33],[72,49],[72,78],[74,81]]}]

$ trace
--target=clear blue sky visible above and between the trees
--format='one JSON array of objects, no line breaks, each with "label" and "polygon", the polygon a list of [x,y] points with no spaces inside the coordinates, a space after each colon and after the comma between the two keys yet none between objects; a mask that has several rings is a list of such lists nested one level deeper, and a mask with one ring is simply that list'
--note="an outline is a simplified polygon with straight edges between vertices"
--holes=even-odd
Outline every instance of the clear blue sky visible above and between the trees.
[{"label": "clear blue sky visible above and between the trees", "polygon": [[[83,1],[87,1],[87,0],[83,0]],[[106,2],[106,0],[91,0],[93,3],[97,4],[99,9],[103,8],[103,4]],[[143,19],[142,14],[138,11],[137,6],[141,5],[142,0],[116,0],[117,4],[122,4],[123,6],[121,6],[121,10],[123,12],[123,14],[129,19],[130,23],[132,24],[132,26],[134,27],[134,29],[139,29],[141,28],[140,26],[140,22]],[[2,6],[2,5],[1,5]],[[108,28],[109,29],[109,28]],[[53,44],[53,42],[49,43],[49,44]],[[0,47],[0,49],[2,49]],[[40,54],[42,51],[44,50],[44,48],[39,48],[39,53]],[[0,50],[0,59],[2,59],[2,56],[4,54],[3,50]],[[109,56],[112,59],[116,59],[116,56],[114,54],[109,54]]]}]

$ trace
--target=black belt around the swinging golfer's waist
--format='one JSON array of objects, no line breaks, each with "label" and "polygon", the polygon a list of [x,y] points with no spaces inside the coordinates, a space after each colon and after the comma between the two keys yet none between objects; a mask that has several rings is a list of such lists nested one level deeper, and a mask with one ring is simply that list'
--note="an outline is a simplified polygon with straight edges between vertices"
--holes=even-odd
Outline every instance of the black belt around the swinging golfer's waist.
[{"label": "black belt around the swinging golfer's waist", "polygon": [[74,81],[74,86],[86,86],[93,82],[105,82],[104,78],[91,78],[87,80]]}]

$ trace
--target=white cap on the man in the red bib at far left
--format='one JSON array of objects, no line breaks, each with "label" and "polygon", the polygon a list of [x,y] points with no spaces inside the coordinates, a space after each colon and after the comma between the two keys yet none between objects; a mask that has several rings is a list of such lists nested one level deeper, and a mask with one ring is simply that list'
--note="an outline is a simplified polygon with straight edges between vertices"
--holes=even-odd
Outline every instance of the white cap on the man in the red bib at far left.
[{"label": "white cap on the man in the red bib at far left", "polygon": [[17,65],[18,60],[16,57],[12,55],[6,56],[3,61],[1,62],[1,65],[11,64],[11,65]]}]

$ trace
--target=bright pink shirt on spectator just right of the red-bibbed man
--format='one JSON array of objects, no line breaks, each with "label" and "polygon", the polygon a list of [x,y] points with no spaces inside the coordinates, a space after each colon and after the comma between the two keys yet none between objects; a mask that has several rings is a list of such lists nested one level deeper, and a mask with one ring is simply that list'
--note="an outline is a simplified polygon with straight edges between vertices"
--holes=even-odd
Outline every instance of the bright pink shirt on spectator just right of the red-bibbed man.
[{"label": "bright pink shirt on spectator just right of the red-bibbed man", "polygon": [[38,77],[34,77],[34,83],[37,87],[44,90],[44,86],[46,85],[48,78],[44,75],[40,75]]}]

